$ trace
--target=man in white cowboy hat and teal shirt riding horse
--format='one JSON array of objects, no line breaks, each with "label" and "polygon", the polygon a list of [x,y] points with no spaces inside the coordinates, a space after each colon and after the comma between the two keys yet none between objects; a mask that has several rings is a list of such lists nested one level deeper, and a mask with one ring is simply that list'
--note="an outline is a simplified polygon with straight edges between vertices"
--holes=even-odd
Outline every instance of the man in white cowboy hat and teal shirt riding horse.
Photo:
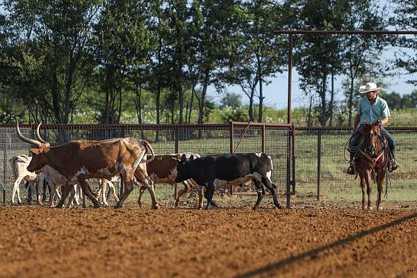
[{"label": "man in white cowboy hat and teal shirt riding horse", "polygon": [[[361,138],[361,133],[359,129],[366,124],[366,122],[378,122],[381,125],[381,133],[386,137],[388,140],[389,148],[391,149],[391,171],[398,169],[398,164],[395,162],[395,141],[386,129],[384,129],[383,125],[388,123],[389,117],[391,116],[389,113],[388,104],[386,101],[381,97],[378,97],[378,91],[382,90],[382,88],[378,88],[377,84],[375,83],[366,83],[366,85],[361,85],[359,88],[359,92],[361,94],[366,95],[359,100],[358,104],[358,113],[354,120],[352,138],[350,139],[349,151],[350,151],[350,166],[347,169],[347,174],[355,174],[354,170],[354,154],[355,152],[352,151],[357,147],[359,139]],[[359,125],[359,128],[358,128]]]}]

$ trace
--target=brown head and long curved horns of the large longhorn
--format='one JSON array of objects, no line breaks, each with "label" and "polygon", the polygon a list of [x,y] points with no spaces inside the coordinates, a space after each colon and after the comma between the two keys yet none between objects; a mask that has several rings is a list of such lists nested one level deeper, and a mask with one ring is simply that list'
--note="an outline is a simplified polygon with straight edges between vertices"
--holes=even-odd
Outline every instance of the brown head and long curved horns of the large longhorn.
[{"label": "brown head and long curved horns of the large longhorn", "polygon": [[36,129],[36,136],[38,137],[38,140],[34,140],[23,136],[19,129],[19,122],[17,122],[17,136],[19,136],[19,138],[22,139],[22,141],[28,142],[29,144],[36,146],[35,148],[29,149],[29,152],[31,152],[32,154],[31,163],[29,163],[28,167],[26,168],[29,172],[35,172],[37,170],[40,170],[40,168],[44,167],[44,165],[47,164],[47,158],[45,154],[49,152],[50,144],[49,142],[46,142],[42,140],[42,138],[40,138],[39,128],[41,124],[42,123],[40,123],[38,125],[38,128]]}]

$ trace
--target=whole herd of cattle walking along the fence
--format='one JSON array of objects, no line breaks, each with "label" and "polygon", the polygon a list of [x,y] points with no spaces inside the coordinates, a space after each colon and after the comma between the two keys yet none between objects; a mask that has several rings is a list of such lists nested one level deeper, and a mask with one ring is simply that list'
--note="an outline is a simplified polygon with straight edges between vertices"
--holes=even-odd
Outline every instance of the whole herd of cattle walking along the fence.
[{"label": "whole herd of cattle walking along the fence", "polygon": [[[237,185],[252,181],[258,198],[256,209],[268,188],[275,206],[280,208],[277,200],[276,186],[271,181],[272,160],[264,153],[216,154],[200,157],[198,154],[155,154],[146,140],[136,138],[114,138],[109,140],[74,140],[58,147],[51,147],[49,142],[40,137],[40,124],[36,129],[38,140],[26,138],[16,126],[17,136],[35,147],[29,149],[31,156],[23,154],[10,159],[15,183],[12,192],[12,204],[15,194],[21,203],[19,183],[23,180],[31,187],[40,188],[47,181],[50,191],[49,206],[54,206],[55,196],[60,198],[56,207],[62,208],[70,194],[70,201],[79,204],[79,197],[88,197],[95,208],[106,201],[106,186],[110,187],[117,204],[123,206],[135,185],[140,186],[138,204],[141,206],[142,193],[147,189],[152,198],[152,208],[158,208],[154,184],[183,183],[184,190],[176,199],[179,200],[192,188],[199,193],[198,208],[202,208],[203,191],[207,201],[206,209],[211,208],[213,193],[216,189],[228,185]],[[88,181],[99,180],[99,192],[93,194]],[[123,194],[120,199],[115,193],[114,181],[120,181]],[[63,186],[62,195],[58,188]],[[81,190],[79,189],[81,188]],[[81,191],[81,192],[80,192]],[[98,197],[97,197],[98,196]],[[36,200],[41,203],[36,190]],[[85,206],[85,202],[83,202]]]}]

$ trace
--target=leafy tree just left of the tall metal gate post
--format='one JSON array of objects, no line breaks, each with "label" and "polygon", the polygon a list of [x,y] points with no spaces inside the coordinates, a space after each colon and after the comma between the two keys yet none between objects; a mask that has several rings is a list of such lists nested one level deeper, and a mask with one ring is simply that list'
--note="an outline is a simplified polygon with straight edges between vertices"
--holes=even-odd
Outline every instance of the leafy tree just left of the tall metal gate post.
[{"label": "leafy tree just left of the tall metal gate post", "polygon": [[280,18],[280,7],[270,0],[243,1],[236,13],[238,25],[233,33],[235,42],[225,79],[239,85],[249,99],[251,121],[255,120],[256,93],[259,94],[257,120],[262,122],[263,85],[268,85],[268,77],[281,72],[281,66],[285,64],[280,37],[272,32],[278,26],[282,28]]}]

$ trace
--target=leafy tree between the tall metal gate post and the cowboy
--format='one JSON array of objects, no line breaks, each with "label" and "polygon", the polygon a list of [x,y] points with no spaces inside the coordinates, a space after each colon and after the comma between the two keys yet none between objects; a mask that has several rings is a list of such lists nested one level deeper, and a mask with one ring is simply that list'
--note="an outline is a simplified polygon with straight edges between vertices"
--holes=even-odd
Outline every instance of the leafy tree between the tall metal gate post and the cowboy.
[{"label": "leafy tree between the tall metal gate post and the cowboy", "polygon": [[[340,30],[344,5],[338,1],[314,0],[298,2],[300,27],[306,30]],[[327,79],[336,74],[341,64],[341,40],[332,35],[303,35],[295,49],[295,63],[300,87],[306,93],[313,88],[320,96],[321,124],[327,121]]]}]

